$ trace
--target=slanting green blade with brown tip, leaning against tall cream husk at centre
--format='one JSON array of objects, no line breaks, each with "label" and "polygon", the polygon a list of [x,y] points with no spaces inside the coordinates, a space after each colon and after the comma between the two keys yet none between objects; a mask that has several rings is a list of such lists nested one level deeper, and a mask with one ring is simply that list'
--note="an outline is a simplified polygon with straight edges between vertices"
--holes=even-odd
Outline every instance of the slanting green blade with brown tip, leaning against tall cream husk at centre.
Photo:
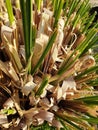
[{"label": "slanting green blade with brown tip, leaning against tall cream husk at centre", "polygon": [[34,75],[34,73],[36,72],[36,70],[40,67],[40,65],[42,64],[45,56],[47,55],[47,53],[49,52],[49,50],[51,49],[51,47],[53,46],[53,43],[56,39],[56,36],[57,36],[57,31],[54,31],[51,38],[49,39],[49,42],[43,52],[43,54],[41,55],[38,63],[36,64],[36,66],[32,69],[32,75]]}]

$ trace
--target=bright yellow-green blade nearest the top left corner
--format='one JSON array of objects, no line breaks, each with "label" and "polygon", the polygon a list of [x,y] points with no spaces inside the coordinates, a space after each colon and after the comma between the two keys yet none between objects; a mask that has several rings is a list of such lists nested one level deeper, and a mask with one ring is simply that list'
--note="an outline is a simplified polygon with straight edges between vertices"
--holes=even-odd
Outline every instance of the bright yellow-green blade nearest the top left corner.
[{"label": "bright yellow-green blade nearest the top left corner", "polygon": [[6,3],[10,25],[12,26],[14,22],[14,15],[13,15],[13,10],[12,10],[11,0],[5,0],[5,3]]}]

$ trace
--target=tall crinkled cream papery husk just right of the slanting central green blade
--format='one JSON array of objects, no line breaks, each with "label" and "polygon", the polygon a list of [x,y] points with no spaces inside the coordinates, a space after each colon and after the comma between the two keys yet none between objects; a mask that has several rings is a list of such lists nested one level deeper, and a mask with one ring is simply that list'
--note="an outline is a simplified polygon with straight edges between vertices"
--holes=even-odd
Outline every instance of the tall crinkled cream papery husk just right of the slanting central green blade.
[{"label": "tall crinkled cream papery husk just right of the slanting central green blade", "polygon": [[61,49],[63,38],[64,38],[63,28],[64,28],[64,20],[61,18],[59,19],[59,22],[58,22],[57,38],[44,62],[44,70],[43,70],[44,73],[47,73],[47,72],[51,73],[54,63],[58,61],[58,54]]}]

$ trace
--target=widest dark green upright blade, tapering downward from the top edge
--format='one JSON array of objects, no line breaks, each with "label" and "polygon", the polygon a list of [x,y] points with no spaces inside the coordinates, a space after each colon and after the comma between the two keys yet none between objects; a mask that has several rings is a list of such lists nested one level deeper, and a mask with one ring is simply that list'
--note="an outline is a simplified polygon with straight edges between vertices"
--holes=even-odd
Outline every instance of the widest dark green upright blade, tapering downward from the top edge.
[{"label": "widest dark green upright blade, tapering downward from the top edge", "polygon": [[22,13],[22,23],[25,41],[26,61],[32,51],[32,0],[20,0],[20,8]]}]

